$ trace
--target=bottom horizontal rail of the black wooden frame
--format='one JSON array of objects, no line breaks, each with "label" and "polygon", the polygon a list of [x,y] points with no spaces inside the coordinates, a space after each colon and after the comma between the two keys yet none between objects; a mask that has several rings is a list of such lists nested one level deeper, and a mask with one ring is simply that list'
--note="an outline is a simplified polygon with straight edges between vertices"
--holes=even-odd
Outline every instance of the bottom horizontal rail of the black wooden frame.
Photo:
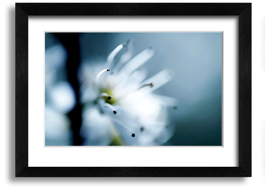
[{"label": "bottom horizontal rail of the black wooden frame", "polygon": [[241,167],[25,167],[17,177],[244,177]]}]

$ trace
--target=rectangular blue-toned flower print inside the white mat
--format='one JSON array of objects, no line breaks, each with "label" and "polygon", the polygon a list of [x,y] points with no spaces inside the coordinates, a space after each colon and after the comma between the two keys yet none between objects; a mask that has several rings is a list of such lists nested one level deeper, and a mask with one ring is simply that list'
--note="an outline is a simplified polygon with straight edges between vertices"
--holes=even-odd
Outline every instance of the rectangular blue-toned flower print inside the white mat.
[{"label": "rectangular blue-toned flower print inside the white mat", "polygon": [[45,32],[45,146],[222,146],[222,32]]}]

